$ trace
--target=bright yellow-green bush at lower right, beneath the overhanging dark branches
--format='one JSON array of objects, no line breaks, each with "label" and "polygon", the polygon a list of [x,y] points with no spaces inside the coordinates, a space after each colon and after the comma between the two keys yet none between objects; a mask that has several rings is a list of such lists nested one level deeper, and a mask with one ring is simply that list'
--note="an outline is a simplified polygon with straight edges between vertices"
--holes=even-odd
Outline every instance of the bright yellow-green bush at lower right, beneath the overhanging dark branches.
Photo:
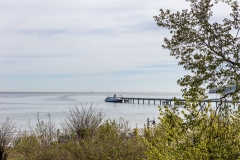
[{"label": "bright yellow-green bush at lower right, beneath the overhanging dark branches", "polygon": [[200,111],[197,108],[188,111],[180,111],[178,107],[160,108],[160,123],[153,129],[146,129],[142,138],[148,158],[240,158],[240,110],[219,112],[208,105]]}]

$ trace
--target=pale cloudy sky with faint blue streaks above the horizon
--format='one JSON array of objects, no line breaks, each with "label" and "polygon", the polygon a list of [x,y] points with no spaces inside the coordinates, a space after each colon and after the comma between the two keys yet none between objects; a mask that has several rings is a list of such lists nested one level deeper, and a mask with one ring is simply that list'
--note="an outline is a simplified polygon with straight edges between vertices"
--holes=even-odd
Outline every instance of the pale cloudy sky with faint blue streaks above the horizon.
[{"label": "pale cloudy sky with faint blue streaks above the horizon", "polygon": [[189,3],[0,0],[0,92],[179,92],[188,72],[161,47],[160,8]]}]

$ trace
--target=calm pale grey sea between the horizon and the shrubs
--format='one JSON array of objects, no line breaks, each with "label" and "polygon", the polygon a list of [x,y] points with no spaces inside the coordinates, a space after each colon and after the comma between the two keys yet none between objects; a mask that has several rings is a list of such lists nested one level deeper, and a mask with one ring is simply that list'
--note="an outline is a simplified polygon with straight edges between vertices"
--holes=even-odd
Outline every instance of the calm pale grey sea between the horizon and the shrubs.
[{"label": "calm pale grey sea between the horizon and the shrubs", "polygon": [[[147,119],[155,119],[158,123],[159,101],[150,104],[145,101],[138,103],[111,103],[105,98],[117,94],[122,97],[135,98],[181,98],[178,92],[0,92],[0,123],[7,117],[12,119],[19,130],[28,130],[29,125],[37,123],[37,114],[40,120],[47,122],[48,114],[55,126],[61,129],[61,123],[71,108],[96,107],[105,114],[105,119],[128,121],[130,128],[143,128]],[[160,106],[161,107],[161,106]]]}]

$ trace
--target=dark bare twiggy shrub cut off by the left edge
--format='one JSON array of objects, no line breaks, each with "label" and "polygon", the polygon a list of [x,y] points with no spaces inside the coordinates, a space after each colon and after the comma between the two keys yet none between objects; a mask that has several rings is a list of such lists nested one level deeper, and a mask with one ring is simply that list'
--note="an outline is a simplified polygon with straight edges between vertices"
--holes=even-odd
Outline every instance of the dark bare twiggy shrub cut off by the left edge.
[{"label": "dark bare twiggy shrub cut off by the left edge", "polygon": [[15,124],[9,117],[0,123],[0,160],[6,160],[8,156],[7,149],[15,137]]}]

